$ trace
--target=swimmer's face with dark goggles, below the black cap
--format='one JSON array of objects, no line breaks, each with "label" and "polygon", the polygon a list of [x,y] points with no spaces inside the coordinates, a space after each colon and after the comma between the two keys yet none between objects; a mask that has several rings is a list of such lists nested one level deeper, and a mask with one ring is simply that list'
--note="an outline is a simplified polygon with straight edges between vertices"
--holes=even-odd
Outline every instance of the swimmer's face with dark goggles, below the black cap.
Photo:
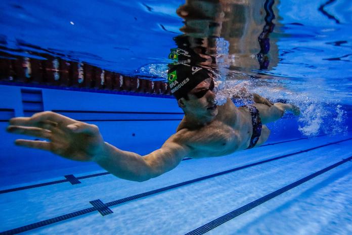
[{"label": "swimmer's face with dark goggles, below the black cap", "polygon": [[[199,116],[216,116],[214,81],[208,78],[188,93],[189,99],[181,98],[181,107]],[[179,101],[180,104],[180,101]]]}]

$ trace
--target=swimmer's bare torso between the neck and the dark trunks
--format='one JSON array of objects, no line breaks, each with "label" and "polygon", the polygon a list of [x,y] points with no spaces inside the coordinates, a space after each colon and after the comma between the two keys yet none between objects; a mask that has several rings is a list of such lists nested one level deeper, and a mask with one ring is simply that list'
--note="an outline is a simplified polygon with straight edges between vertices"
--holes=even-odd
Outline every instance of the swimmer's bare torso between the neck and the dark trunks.
[{"label": "swimmer's bare torso between the neck and the dark trunks", "polygon": [[236,108],[230,99],[217,108],[215,119],[205,126],[194,129],[184,120],[180,123],[175,137],[192,149],[189,157],[221,156],[248,147],[252,135],[250,113]]}]

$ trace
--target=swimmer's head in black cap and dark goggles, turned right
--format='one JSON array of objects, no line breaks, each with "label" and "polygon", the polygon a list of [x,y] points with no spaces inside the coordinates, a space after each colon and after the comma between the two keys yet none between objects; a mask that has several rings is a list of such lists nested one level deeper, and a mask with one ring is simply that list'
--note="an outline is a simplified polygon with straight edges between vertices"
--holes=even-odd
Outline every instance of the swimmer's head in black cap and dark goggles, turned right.
[{"label": "swimmer's head in black cap and dark goggles, turned right", "polygon": [[207,69],[178,64],[174,70],[169,70],[168,82],[185,113],[199,117],[217,114],[214,81]]}]

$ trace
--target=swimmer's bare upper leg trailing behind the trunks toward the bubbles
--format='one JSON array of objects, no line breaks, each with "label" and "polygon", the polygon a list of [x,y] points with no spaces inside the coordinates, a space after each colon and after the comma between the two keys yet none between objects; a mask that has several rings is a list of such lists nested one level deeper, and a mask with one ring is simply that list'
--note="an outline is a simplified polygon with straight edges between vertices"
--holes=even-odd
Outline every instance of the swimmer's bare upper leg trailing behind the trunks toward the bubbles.
[{"label": "swimmer's bare upper leg trailing behind the trunks toward the bubbles", "polygon": [[259,111],[262,124],[272,123],[279,120],[285,111],[291,111],[295,115],[299,115],[299,108],[293,104],[275,103],[271,106],[266,104],[253,104]]}]

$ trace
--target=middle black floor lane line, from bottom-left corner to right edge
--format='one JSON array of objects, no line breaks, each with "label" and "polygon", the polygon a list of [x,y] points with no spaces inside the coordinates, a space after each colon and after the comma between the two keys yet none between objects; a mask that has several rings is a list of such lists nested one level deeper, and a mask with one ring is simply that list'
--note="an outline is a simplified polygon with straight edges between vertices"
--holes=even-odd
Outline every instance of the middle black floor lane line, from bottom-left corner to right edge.
[{"label": "middle black floor lane line, from bottom-left corner to right edge", "polygon": [[[202,181],[202,180],[205,180],[205,179],[209,179],[209,178],[212,178],[212,177],[216,177],[216,176],[219,176],[219,175],[224,175],[224,174],[227,174],[227,173],[231,173],[231,172],[234,172],[234,171],[242,170],[242,169],[249,168],[249,167],[252,167],[252,166],[256,166],[256,165],[260,165],[260,164],[263,164],[263,163],[267,163],[267,162],[275,161],[275,160],[278,160],[278,159],[286,158],[287,156],[299,154],[299,153],[302,153],[302,152],[308,152],[308,151],[311,151],[311,150],[314,150],[314,149],[317,149],[317,148],[321,148],[321,147],[325,147],[325,146],[328,146],[328,145],[341,143],[341,142],[348,141],[348,140],[351,140],[351,139],[352,138],[348,138],[348,139],[344,139],[344,140],[340,140],[340,141],[336,141],[336,142],[332,142],[332,143],[327,143],[327,144],[324,144],[324,145],[321,145],[321,146],[317,146],[317,147],[314,147],[314,148],[309,148],[309,149],[300,150],[300,151],[297,151],[297,152],[285,154],[285,155],[282,155],[282,156],[278,156],[276,158],[263,160],[263,161],[252,163],[252,164],[248,164],[248,165],[245,165],[245,166],[242,166],[242,167],[233,168],[233,169],[230,169],[230,170],[227,170],[227,171],[218,172],[218,173],[215,173],[215,174],[211,174],[211,175],[208,175],[208,176],[203,176],[203,177],[196,178],[196,179],[193,179],[193,180],[188,180],[188,181],[185,181],[185,182],[182,182],[182,183],[178,183],[178,184],[173,184],[173,185],[170,185],[170,186],[166,186],[166,187],[163,187],[163,188],[151,190],[151,191],[148,191],[148,192],[143,192],[143,193],[140,193],[140,194],[136,194],[136,195],[127,197],[127,198],[123,198],[123,199],[119,199],[119,200],[112,201],[112,202],[109,202],[109,203],[105,203],[104,205],[107,208],[109,208],[109,207],[116,206],[116,205],[119,205],[119,204],[122,204],[122,203],[125,203],[125,202],[130,202],[130,201],[133,201],[133,200],[136,200],[136,199],[147,197],[147,196],[152,195],[152,194],[163,192],[163,191],[166,191],[166,190],[169,190],[169,189],[178,188],[178,187],[181,187],[181,186],[184,186],[184,185],[187,185],[187,184],[195,183],[195,182]],[[344,160],[344,161],[349,161],[349,160]],[[25,232],[25,231],[32,230],[32,229],[35,229],[35,228],[39,228],[39,227],[43,227],[43,226],[46,226],[46,225],[49,225],[49,224],[60,222],[60,221],[66,220],[66,219],[70,219],[70,218],[73,218],[73,217],[76,217],[76,216],[80,216],[80,215],[84,215],[84,214],[87,214],[87,213],[91,213],[93,211],[97,211],[97,209],[95,207],[83,209],[83,210],[76,211],[76,212],[73,212],[73,213],[69,213],[69,214],[66,214],[66,215],[61,215],[61,216],[54,217],[54,218],[51,218],[51,219],[42,220],[42,221],[39,221],[39,222],[36,222],[36,223],[32,223],[32,224],[28,224],[28,225],[25,225],[25,226],[22,226],[22,227],[18,227],[18,228],[14,228],[14,229],[11,229],[11,230],[4,231],[4,232],[0,232],[0,235],[3,235],[3,234],[17,234],[17,233],[20,233],[20,232]]]}]

